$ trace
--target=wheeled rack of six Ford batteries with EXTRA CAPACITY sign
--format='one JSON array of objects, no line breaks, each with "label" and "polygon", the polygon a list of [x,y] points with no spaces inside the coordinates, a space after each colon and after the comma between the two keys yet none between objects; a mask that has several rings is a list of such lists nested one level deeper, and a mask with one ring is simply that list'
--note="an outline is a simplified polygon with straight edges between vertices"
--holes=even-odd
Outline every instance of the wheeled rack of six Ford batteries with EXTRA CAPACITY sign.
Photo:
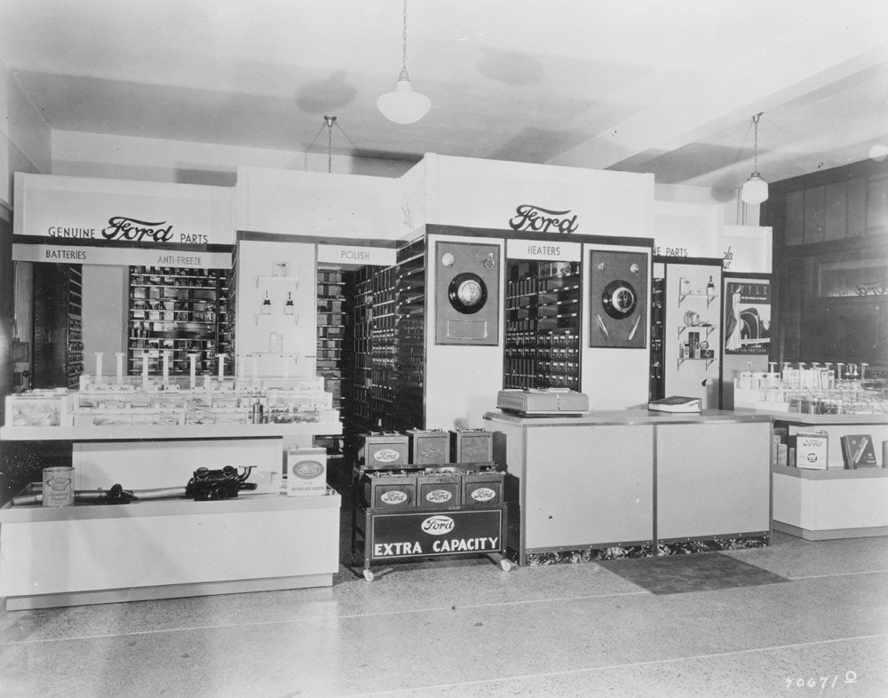
[{"label": "wheeled rack of six Ford batteries with EXTRA CAPACITY sign", "polygon": [[364,435],[351,550],[362,549],[368,581],[373,563],[419,557],[488,554],[511,568],[502,557],[505,473],[490,460],[492,438],[483,430]]}]

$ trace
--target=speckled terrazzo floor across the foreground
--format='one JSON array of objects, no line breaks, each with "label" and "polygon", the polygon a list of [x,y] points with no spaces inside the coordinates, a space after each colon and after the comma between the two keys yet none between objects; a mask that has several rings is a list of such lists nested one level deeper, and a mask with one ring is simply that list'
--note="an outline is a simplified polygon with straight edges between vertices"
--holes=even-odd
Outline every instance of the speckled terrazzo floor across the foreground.
[{"label": "speckled terrazzo floor across the foreground", "polygon": [[0,612],[0,696],[888,695],[888,538],[700,555],[696,586],[477,558]]}]

